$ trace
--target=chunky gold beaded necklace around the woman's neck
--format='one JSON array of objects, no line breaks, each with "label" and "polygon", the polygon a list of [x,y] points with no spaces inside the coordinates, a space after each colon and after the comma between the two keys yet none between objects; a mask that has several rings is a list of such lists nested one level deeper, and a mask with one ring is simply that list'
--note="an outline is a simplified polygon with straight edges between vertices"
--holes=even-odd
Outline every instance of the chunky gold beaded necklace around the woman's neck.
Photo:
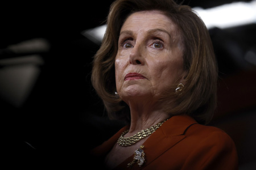
[{"label": "chunky gold beaded necklace around the woman's neck", "polygon": [[152,133],[154,133],[156,131],[156,129],[158,129],[160,126],[162,126],[162,124],[164,122],[166,122],[167,120],[160,122],[159,124],[157,124],[155,126],[151,126],[150,128],[139,131],[137,134],[134,134],[131,137],[127,137],[127,138],[123,137],[129,131],[129,130],[126,130],[121,134],[121,136],[117,140],[117,143],[118,143],[118,145],[124,146],[124,147],[134,145],[135,143],[141,141],[141,139],[146,138],[148,135],[151,135]]}]

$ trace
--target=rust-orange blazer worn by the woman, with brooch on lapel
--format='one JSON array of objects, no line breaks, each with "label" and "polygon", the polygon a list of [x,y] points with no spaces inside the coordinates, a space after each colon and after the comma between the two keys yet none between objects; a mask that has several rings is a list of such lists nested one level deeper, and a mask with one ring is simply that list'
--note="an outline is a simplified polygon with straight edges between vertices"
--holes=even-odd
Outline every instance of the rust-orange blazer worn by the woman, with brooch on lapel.
[{"label": "rust-orange blazer worn by the woman, with brooch on lapel", "polygon": [[[94,148],[94,155],[105,158],[125,126],[112,138]],[[189,116],[173,116],[143,143],[146,162],[131,169],[238,169],[237,151],[224,131],[204,126]],[[130,169],[131,155],[115,169]]]}]

